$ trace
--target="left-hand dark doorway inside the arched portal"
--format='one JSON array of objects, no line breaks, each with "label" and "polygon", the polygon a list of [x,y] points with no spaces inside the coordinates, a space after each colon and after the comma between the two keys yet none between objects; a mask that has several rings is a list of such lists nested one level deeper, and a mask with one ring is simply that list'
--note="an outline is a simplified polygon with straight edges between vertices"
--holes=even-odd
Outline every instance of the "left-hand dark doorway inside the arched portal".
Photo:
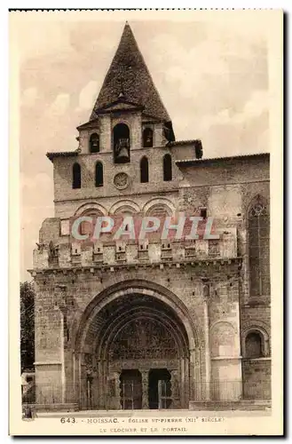
[{"label": "left-hand dark doorway inside the arched portal", "polygon": [[142,408],[142,377],[138,369],[122,370],[120,380],[122,409]]}]

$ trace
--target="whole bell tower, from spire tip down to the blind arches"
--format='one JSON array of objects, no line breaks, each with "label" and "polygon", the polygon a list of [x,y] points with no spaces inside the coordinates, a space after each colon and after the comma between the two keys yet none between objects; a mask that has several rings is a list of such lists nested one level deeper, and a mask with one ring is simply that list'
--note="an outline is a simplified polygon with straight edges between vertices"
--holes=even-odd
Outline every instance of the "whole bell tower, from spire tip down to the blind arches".
[{"label": "whole bell tower, from spire tip down to the blind arches", "polygon": [[67,227],[64,234],[82,205],[97,200],[107,214],[125,195],[144,202],[149,194],[159,199],[178,190],[177,161],[201,158],[200,140],[176,141],[128,22],[90,119],[77,131],[75,151],[47,153],[54,167],[55,217]]}]

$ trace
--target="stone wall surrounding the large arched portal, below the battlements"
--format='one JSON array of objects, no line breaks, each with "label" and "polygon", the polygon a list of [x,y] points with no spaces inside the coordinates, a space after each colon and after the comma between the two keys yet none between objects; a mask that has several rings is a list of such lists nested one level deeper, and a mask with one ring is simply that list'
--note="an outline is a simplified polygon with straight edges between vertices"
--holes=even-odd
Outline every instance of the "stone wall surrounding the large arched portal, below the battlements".
[{"label": "stone wall surrounding the large arched portal, below the battlements", "polygon": [[[38,381],[42,380],[42,375],[44,375],[42,370],[45,369],[45,371],[49,372],[51,378],[56,379],[56,384],[58,381],[58,384],[60,384],[63,377],[62,369],[65,369],[66,367],[65,377],[67,379],[67,384],[72,385],[74,372],[72,353],[75,350],[76,329],[79,327],[84,310],[95,300],[95,298],[99,297],[99,294],[103,290],[110,287],[112,288],[114,285],[121,282],[137,280],[137,278],[140,281],[148,282],[149,287],[157,284],[164,289],[169,289],[182,301],[193,320],[200,342],[201,379],[205,381],[206,379],[208,380],[209,377],[222,378],[223,374],[217,373],[217,361],[212,361],[210,375],[208,376],[206,374],[206,359],[209,359],[209,349],[206,349],[206,320],[204,318],[206,301],[203,297],[203,282],[201,281],[201,275],[209,276],[209,281],[212,285],[212,295],[215,292],[215,289],[217,295],[216,302],[212,301],[210,303],[211,315],[209,317],[209,341],[213,344],[217,338],[216,325],[219,319],[222,322],[232,325],[233,345],[229,349],[228,359],[230,359],[229,354],[232,355],[233,358],[239,358],[238,344],[240,341],[240,326],[238,304],[230,301],[226,308],[225,300],[225,276],[226,274],[234,274],[234,271],[230,267],[231,266],[226,265],[225,267],[222,267],[221,270],[219,268],[210,268],[207,274],[204,267],[201,266],[193,267],[189,265],[181,266],[179,268],[177,266],[164,266],[162,268],[159,264],[154,268],[149,266],[139,267],[138,270],[135,267],[130,269],[117,267],[115,269],[113,268],[113,271],[107,270],[107,272],[91,269],[80,270],[78,273],[70,270],[65,274],[63,271],[46,273],[44,275],[37,274],[35,278],[37,282],[37,306],[43,307],[36,316],[36,360],[43,360],[43,363],[41,362],[41,364],[36,366]],[[236,281],[236,279],[235,273],[234,280]],[[63,289],[63,297],[65,297],[66,300],[66,303],[63,304],[67,307],[67,329],[65,330],[64,319],[62,318],[62,312],[59,309],[59,305],[62,305],[59,300],[59,288]],[[237,299],[238,301],[239,295],[237,294],[237,297],[235,295],[236,288],[237,286],[235,285],[232,300]],[[216,304],[217,310],[220,313],[219,317],[215,312],[214,304]],[[43,329],[44,325],[45,329]],[[213,327],[213,325],[215,325],[215,327]],[[92,324],[92,337],[97,337],[98,330],[94,330],[97,328],[98,324]],[[46,335],[45,343],[41,342],[43,334]],[[65,337],[63,345],[65,347],[65,355],[63,354],[61,344],[62,334]],[[47,349],[48,346],[49,350]],[[86,349],[85,351],[88,353],[90,352],[90,349]],[[216,355],[215,357],[217,358],[218,356]],[[47,365],[43,367],[45,362]],[[237,377],[240,377],[239,372],[240,370],[237,371]],[[236,375],[234,373],[233,377],[235,378]],[[74,393],[70,391],[67,392],[67,402],[74,401]]]}]

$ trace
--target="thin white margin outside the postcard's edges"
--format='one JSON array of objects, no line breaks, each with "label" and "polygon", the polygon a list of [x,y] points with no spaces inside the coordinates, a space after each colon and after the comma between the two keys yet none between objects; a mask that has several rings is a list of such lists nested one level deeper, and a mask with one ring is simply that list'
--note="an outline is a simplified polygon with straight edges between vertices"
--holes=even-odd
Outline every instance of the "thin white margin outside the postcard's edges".
[{"label": "thin white margin outside the postcard's edges", "polygon": [[[78,7],[82,7],[82,8],[94,8],[97,7],[97,3],[93,2],[93,1],[89,1],[89,0],[83,0],[83,2],[75,2],[74,0],[71,0],[71,2],[60,2],[60,1],[56,1],[56,0],[51,0],[50,3],[48,2],[43,2],[41,0],[38,0],[37,2],[35,1],[27,1],[26,4],[23,4],[23,2],[7,2],[4,1],[1,3],[0,6],[0,33],[1,33],[1,59],[2,59],[2,69],[1,69],[1,87],[2,87],[2,95],[1,95],[1,123],[2,123],[2,157],[1,157],[1,174],[0,174],[0,182],[1,182],[1,186],[0,186],[0,193],[1,193],[1,197],[2,197],[2,208],[6,208],[8,209],[8,199],[7,199],[7,195],[8,195],[8,80],[9,80],[9,76],[8,76],[8,69],[7,69],[7,65],[8,65],[8,14],[7,14],[7,9],[8,8],[42,8],[45,6],[49,6],[50,8],[59,8],[59,7],[70,7],[70,8],[78,8]],[[121,8],[121,2],[120,1],[112,1],[109,3],[107,2],[103,2],[103,1],[99,1],[98,4],[99,8],[101,7],[117,7],[117,8]],[[160,0],[148,0],[147,2],[134,2],[134,1],[124,1],[122,3],[123,8],[137,8],[137,7],[146,7],[146,8],[157,8],[157,7],[168,7],[168,8],[175,8],[176,6],[179,6],[180,8],[185,7],[185,8],[193,8],[193,6],[197,7],[197,8],[236,8],[236,9],[240,9],[240,8],[277,8],[277,9],[284,9],[286,12],[291,12],[292,10],[292,5],[290,0],[288,1],[275,1],[275,0],[270,0],[270,1],[265,1],[260,2],[260,1],[250,1],[250,0],[245,0],[242,2],[236,2],[236,4],[234,4],[234,1],[222,1],[220,3],[216,2],[216,1],[210,1],[210,0],[204,0],[204,1],[199,1],[196,2],[196,4],[194,4],[193,1],[181,1],[178,3],[176,2],[165,2],[165,1],[160,1]],[[288,33],[288,47],[291,48],[291,36],[290,33]],[[288,63],[288,67],[287,67],[287,72],[289,72],[289,65],[290,62],[287,60]],[[290,94],[289,97],[286,98],[286,100],[290,99]],[[290,100],[288,100],[288,103],[290,103]],[[291,115],[289,114],[288,110],[287,110],[287,122],[286,122],[287,128],[291,126]],[[288,144],[288,140],[286,140],[286,143]],[[289,152],[290,147],[286,147],[287,149],[287,153]],[[290,158],[291,156],[288,157],[287,155],[287,161],[288,161],[288,166],[291,166],[291,162],[290,162]],[[288,190],[290,190],[290,179],[289,179],[289,174],[288,174]],[[288,203],[288,202],[287,202]],[[8,254],[8,223],[7,223],[7,213],[4,212],[2,213],[2,218],[0,220],[0,227],[1,227],[1,233],[3,234],[2,237],[2,252],[4,252],[4,254],[1,255],[1,259],[2,259],[2,266],[1,266],[1,273],[2,273],[2,305],[1,305],[1,314],[2,314],[2,320],[1,320],[1,328],[2,328],[2,334],[1,334],[1,338],[3,340],[3,344],[2,344],[2,350],[3,350],[3,356],[7,356],[7,331],[8,331],[8,323],[7,323],[7,296],[8,295],[8,279],[7,279],[7,268],[6,268],[6,264],[8,262],[8,258],[5,256],[6,254]],[[290,246],[290,242],[288,243],[288,246]],[[287,247],[288,249],[288,247]],[[288,249],[291,250],[291,249]],[[288,260],[288,266],[291,266],[291,261]],[[288,269],[288,272],[290,270]],[[290,273],[288,273],[288,275],[290,275]],[[6,290],[7,289],[7,290]],[[290,304],[291,307],[291,304]],[[289,313],[290,314],[290,313]],[[3,382],[3,393],[7,396],[7,391],[5,389],[5,381],[7,381],[8,378],[8,373],[7,373],[7,366],[5,365],[4,361],[2,362],[2,366],[1,366],[1,380]],[[290,393],[289,393],[290,394]],[[6,442],[9,438],[7,437],[7,430],[8,430],[8,417],[7,417],[7,405],[8,405],[8,400],[6,398],[6,396],[2,396],[2,400],[4,402],[3,406],[2,406],[2,415],[1,415],[1,421],[3,422],[3,427],[1,427],[1,431],[3,431],[4,433],[2,434],[1,438],[1,442]],[[81,441],[83,441],[83,439],[80,438]],[[37,440],[34,440],[35,442]],[[57,439],[58,441],[58,439]],[[205,441],[205,440],[204,440]]]}]

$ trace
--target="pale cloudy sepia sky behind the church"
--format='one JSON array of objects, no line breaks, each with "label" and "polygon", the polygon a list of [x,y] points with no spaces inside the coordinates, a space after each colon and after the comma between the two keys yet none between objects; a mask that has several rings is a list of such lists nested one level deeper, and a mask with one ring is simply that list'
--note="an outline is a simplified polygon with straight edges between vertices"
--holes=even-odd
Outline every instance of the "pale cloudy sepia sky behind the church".
[{"label": "pale cloudy sepia sky behind the church", "polygon": [[[14,26],[20,78],[21,281],[30,280],[43,218],[54,215],[48,151],[78,147],[125,20],[47,20]],[[128,19],[129,20],[129,19]],[[129,20],[177,140],[204,157],[269,152],[267,33],[260,20]]]}]

